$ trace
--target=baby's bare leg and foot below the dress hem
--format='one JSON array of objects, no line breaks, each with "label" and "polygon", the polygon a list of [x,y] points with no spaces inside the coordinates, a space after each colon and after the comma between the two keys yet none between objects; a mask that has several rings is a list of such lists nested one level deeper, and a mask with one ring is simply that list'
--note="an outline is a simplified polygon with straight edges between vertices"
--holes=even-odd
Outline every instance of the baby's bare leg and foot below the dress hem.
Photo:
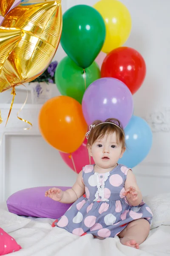
[{"label": "baby's bare leg and foot below the dress hem", "polygon": [[130,222],[118,236],[122,244],[139,249],[139,244],[144,242],[149,231],[149,222],[145,219],[139,219]]}]

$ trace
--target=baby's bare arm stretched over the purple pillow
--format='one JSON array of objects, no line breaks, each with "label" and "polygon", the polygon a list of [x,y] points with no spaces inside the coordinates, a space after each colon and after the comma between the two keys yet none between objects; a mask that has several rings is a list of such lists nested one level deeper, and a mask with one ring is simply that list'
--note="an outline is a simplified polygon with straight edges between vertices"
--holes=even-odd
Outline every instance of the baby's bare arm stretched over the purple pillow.
[{"label": "baby's bare arm stretched over the purple pillow", "polygon": [[85,193],[85,185],[82,179],[82,171],[79,172],[76,183],[71,189],[62,191],[61,189],[53,188],[45,192],[45,196],[49,196],[55,201],[59,201],[64,204],[74,203],[78,198],[80,198]]}]

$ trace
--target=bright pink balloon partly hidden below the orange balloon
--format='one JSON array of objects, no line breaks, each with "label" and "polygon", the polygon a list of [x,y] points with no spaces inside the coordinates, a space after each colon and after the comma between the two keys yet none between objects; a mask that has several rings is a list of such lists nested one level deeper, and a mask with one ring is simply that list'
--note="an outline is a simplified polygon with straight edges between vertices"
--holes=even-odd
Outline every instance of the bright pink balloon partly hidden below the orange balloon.
[{"label": "bright pink balloon partly hidden below the orange balloon", "polygon": [[[85,139],[82,145],[73,153],[63,153],[59,151],[59,154],[61,155],[62,159],[65,161],[65,163],[74,171],[74,172],[81,172],[82,167],[88,164],[94,164],[94,160],[92,157],[89,157],[88,155],[88,149],[87,149],[87,140]],[[74,164],[73,164],[73,161]],[[90,158],[90,159],[89,159]],[[90,163],[91,160],[91,163]],[[74,168],[75,165],[75,168]]]}]

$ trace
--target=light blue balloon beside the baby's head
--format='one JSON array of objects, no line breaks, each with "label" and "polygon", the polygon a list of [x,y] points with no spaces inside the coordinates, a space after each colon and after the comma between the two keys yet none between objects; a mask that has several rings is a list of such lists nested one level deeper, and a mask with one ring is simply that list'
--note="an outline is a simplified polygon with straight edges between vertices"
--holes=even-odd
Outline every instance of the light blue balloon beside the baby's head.
[{"label": "light blue balloon beside the baby's head", "polygon": [[139,116],[132,116],[125,128],[126,151],[119,163],[133,168],[141,163],[152,146],[152,131]]}]

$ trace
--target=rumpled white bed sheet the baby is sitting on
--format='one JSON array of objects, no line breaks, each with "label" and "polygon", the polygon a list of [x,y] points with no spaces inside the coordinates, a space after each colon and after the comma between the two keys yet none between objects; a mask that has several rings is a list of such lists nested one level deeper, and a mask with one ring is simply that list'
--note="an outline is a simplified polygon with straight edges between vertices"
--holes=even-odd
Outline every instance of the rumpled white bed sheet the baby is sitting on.
[{"label": "rumpled white bed sheet the baby is sitting on", "polygon": [[[5,204],[0,209],[6,208]],[[58,227],[51,227],[53,219],[31,218],[23,228],[9,233],[23,249],[14,256],[165,256],[170,255],[170,226],[150,230],[140,249],[124,246],[119,237],[94,239],[91,234],[72,235]],[[140,230],[139,230],[140,232]]]}]

